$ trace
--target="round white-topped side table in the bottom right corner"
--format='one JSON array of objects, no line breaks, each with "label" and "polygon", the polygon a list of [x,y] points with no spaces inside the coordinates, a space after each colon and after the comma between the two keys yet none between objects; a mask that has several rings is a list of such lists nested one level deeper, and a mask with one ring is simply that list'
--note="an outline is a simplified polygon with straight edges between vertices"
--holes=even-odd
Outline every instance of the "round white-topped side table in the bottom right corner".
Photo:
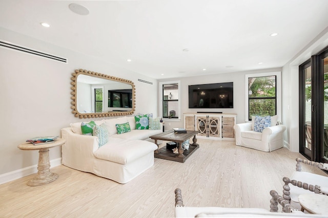
[{"label": "round white-topped side table in the bottom right corner", "polygon": [[302,194],[298,196],[301,211],[308,211],[309,213],[328,215],[328,196],[320,194]]}]

